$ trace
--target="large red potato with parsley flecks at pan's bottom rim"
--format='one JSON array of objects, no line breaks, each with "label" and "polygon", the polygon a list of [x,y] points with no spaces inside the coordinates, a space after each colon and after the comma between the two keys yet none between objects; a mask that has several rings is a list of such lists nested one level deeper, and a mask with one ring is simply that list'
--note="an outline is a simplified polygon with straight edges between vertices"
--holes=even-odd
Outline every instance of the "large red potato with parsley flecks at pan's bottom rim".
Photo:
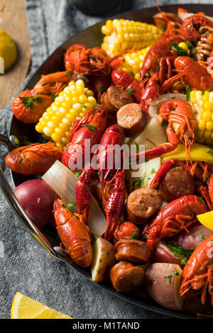
[{"label": "large red potato with parsley flecks at pan's bottom rim", "polygon": [[155,263],[145,273],[148,294],[160,305],[172,310],[182,310],[180,298],[180,277],[182,269],[179,265]]}]

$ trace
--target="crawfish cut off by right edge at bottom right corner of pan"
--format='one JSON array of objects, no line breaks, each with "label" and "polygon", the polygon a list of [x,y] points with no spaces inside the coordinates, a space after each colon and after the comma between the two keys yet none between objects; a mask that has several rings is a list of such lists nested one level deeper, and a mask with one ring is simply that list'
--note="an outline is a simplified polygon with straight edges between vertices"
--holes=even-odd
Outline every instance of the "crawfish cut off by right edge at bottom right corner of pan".
[{"label": "crawfish cut off by right edge at bottom right corner of pan", "polygon": [[213,305],[213,235],[204,239],[187,261],[180,281],[180,296],[190,297],[202,294],[202,304],[205,303],[207,290],[211,295]]}]

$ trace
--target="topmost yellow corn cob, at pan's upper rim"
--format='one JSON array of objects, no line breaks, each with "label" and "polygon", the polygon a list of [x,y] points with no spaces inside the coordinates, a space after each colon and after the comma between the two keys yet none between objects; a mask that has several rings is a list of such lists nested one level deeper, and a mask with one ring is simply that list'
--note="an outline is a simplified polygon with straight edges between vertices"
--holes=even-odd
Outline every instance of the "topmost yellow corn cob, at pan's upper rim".
[{"label": "topmost yellow corn cob, at pan's upper rim", "polygon": [[102,48],[109,56],[120,55],[133,46],[142,49],[155,43],[162,35],[163,31],[152,24],[141,23],[129,20],[108,20],[102,26],[104,40]]}]

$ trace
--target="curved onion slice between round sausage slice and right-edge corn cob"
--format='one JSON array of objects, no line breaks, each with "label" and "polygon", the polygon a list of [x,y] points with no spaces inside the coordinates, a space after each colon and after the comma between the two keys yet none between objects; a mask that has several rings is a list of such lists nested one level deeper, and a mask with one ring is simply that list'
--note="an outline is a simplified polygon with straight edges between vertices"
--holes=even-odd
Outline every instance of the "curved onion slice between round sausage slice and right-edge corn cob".
[{"label": "curved onion slice between round sausage slice and right-edge corn cob", "polygon": [[151,116],[151,118],[157,118],[160,123],[163,122],[162,117],[160,117],[159,108],[162,106],[163,103],[166,101],[169,101],[171,98],[175,99],[182,99],[183,101],[186,101],[186,95],[185,94],[164,94],[156,98],[154,101],[148,100],[148,114]]}]

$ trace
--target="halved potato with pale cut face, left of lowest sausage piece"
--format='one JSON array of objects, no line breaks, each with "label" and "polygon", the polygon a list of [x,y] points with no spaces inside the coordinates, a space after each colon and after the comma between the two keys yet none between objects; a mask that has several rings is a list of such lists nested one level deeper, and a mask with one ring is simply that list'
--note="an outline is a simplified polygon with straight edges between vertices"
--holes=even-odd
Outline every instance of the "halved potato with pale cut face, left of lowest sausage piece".
[{"label": "halved potato with pale cut face, left of lowest sausage piece", "polygon": [[114,266],[116,249],[106,239],[99,237],[93,245],[93,259],[91,264],[92,281],[99,283],[106,280],[109,270]]}]

